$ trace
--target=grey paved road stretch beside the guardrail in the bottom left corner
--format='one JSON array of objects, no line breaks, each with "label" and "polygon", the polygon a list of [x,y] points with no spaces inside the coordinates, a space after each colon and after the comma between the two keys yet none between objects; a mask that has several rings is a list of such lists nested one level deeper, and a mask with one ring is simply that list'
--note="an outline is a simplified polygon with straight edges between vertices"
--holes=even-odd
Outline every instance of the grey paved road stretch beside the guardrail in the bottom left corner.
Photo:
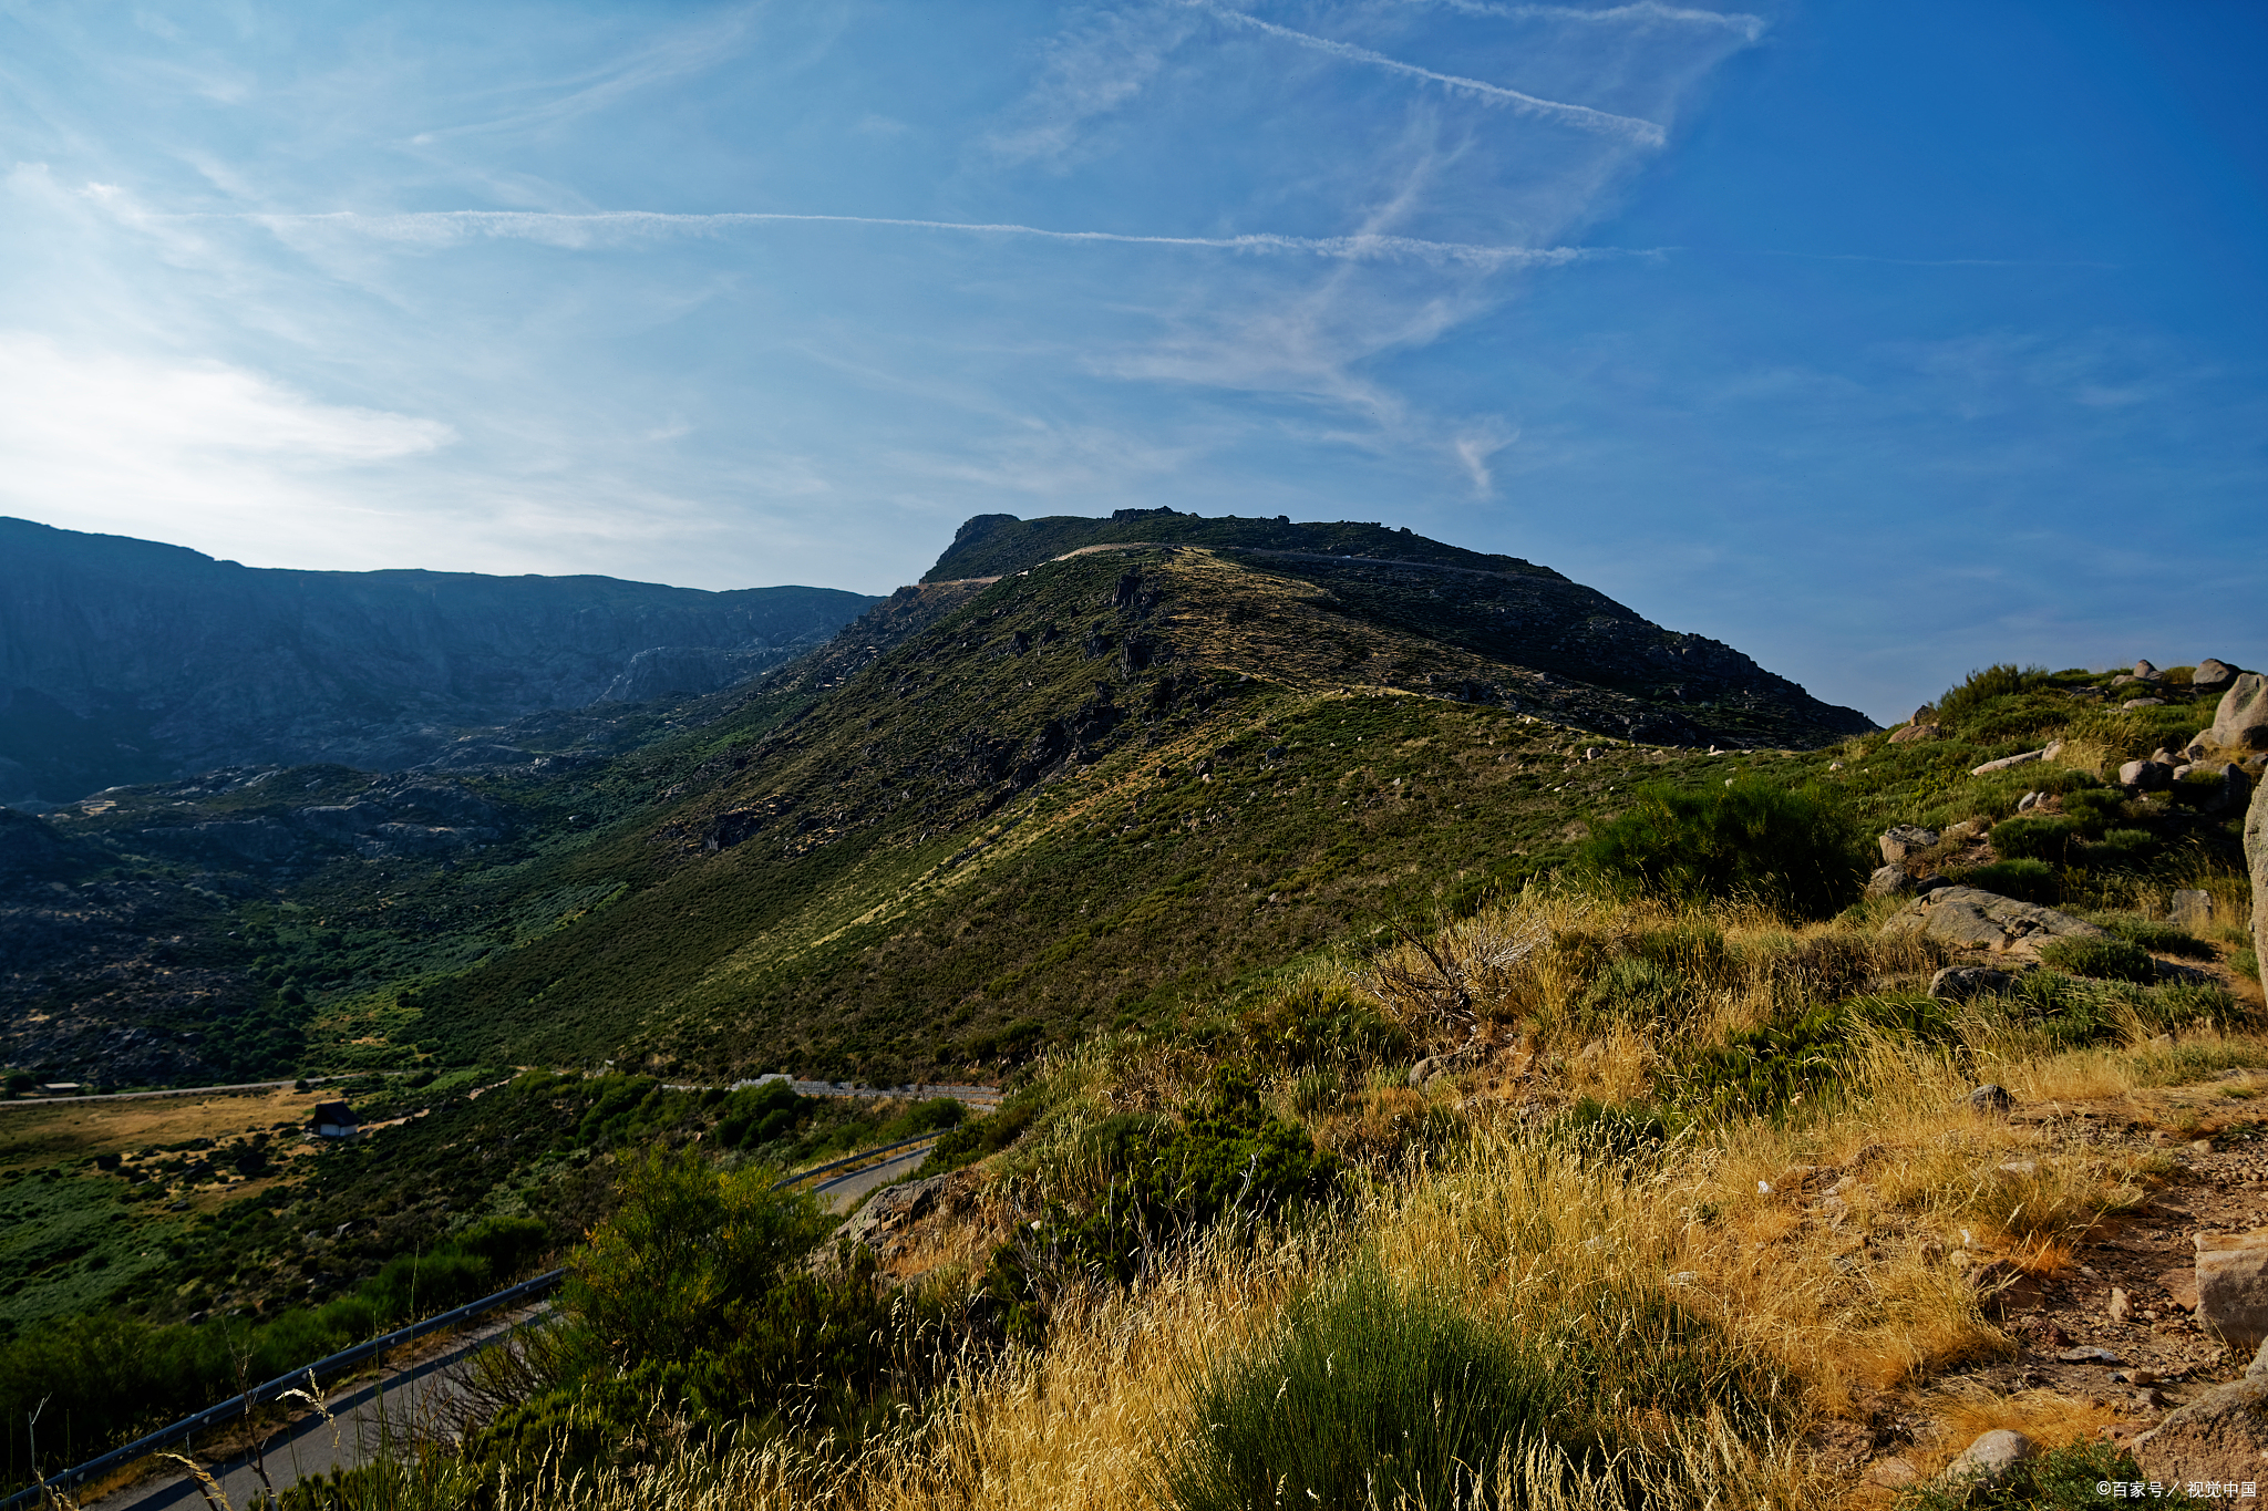
[{"label": "grey paved road stretch beside the guardrail in the bottom left corner", "polygon": [[[458,1393],[458,1382],[463,1380],[460,1366],[472,1355],[501,1341],[515,1328],[540,1321],[549,1309],[551,1303],[542,1303],[510,1318],[492,1321],[485,1328],[463,1334],[451,1348],[431,1359],[401,1371],[388,1371],[381,1380],[336,1391],[324,1400],[324,1409],[331,1414],[329,1423],[311,1411],[306,1418],[279,1427],[263,1443],[268,1482],[277,1491],[284,1491],[299,1479],[320,1479],[333,1468],[354,1468],[383,1457],[388,1443],[404,1436],[404,1427],[426,1425]],[[102,1500],[86,1502],[86,1511],[170,1511],[172,1506],[202,1511],[204,1493],[197,1482],[179,1463],[170,1459],[161,1463],[163,1472]],[[220,1484],[227,1502],[238,1509],[249,1506],[265,1488],[249,1457],[206,1463],[206,1472]]]}]

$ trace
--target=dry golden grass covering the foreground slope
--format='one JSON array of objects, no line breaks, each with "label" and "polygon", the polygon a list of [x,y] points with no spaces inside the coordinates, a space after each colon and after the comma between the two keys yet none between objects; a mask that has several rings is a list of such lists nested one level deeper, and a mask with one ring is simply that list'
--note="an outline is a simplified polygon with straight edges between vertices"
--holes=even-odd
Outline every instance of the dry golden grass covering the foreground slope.
[{"label": "dry golden grass covering the foreground slope", "polygon": [[[503,1486],[497,1504],[1143,1511],[1159,1504],[1161,1454],[1188,1432],[1204,1371],[1261,1343],[1293,1298],[1356,1255],[1406,1289],[1447,1291],[1533,1330],[1613,1337],[1633,1298],[1665,1296],[1712,1328],[1726,1357],[1778,1380],[1774,1429],[1667,1420],[1644,1402],[1626,1414],[1617,1472],[1647,1486],[1653,1506],[1887,1500],[1821,1477],[1801,1450],[1808,1425],[1867,1416],[1885,1395],[1935,1418],[1937,1434],[1905,1454],[1923,1472],[1989,1427],[2043,1445],[2087,1439],[2107,1409],[1932,1380],[2012,1350],[1980,1271],[2064,1273],[2087,1230],[2141,1205],[2164,1167],[1980,1115],[1966,1094],[1998,1081],[2028,1108],[2211,1126],[2245,1115],[2241,1092],[2268,1076],[2198,1083],[2232,1065],[2268,1067],[2268,1042],[2195,1031],[2166,1047],[2136,1024],[2125,1047],[2048,1051],[1980,1006],[1941,1049],[1862,1044],[1839,1085],[1778,1121],[1699,1121],[1653,1149],[1610,1149],[1563,1121],[1579,1096],[1644,1101],[1678,1038],[1780,1019],[1855,981],[1912,981],[1941,963],[1916,940],[1880,940],[1876,924],[1531,893],[1379,961],[1318,967],[1304,985],[1354,988],[1411,1031],[1417,1053],[1454,1056],[1452,1074],[1424,1090],[1390,1069],[1368,1083],[1309,1072],[1304,1090],[1295,1076],[1270,1087],[1279,1115],[1349,1162],[1331,1212],[1254,1241],[1202,1244],[1132,1291],[1066,1298],[1043,1352],[966,1361],[953,1391],[848,1463],[780,1443],[669,1450],[635,1472]],[[1606,965],[1631,958],[1665,963],[1674,994],[1601,997]],[[1084,1169],[1095,1121],[1168,1112],[1207,1069],[1191,1049],[1139,1038],[1095,1040],[1050,1065],[1050,1112],[968,1176],[973,1201],[921,1237],[914,1269],[971,1280],[1034,1198],[1102,1180]],[[1606,1484],[1551,1454],[1506,1457],[1474,1504],[1603,1511]]]}]

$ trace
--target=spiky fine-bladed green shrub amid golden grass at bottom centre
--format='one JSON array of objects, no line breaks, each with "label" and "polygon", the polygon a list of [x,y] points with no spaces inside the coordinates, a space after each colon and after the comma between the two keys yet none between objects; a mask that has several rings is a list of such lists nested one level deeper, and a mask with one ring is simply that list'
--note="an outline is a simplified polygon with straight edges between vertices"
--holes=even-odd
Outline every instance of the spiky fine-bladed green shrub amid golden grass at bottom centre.
[{"label": "spiky fine-bladed green shrub amid golden grass at bottom centre", "polygon": [[[1166,1500],[1177,1511],[1465,1504],[1567,1405],[1535,1341],[1406,1296],[1365,1264],[1198,1384]],[[1585,1443],[1560,1441],[1585,1457]]]}]

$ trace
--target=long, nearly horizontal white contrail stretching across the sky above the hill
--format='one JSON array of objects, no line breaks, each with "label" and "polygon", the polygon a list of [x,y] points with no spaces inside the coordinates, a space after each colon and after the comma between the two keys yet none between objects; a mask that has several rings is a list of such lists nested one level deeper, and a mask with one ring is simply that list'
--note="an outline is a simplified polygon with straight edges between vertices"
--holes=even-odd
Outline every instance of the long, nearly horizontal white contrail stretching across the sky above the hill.
[{"label": "long, nearly horizontal white contrail stretching across the sky above the hill", "polygon": [[624,236],[714,233],[767,224],[837,224],[894,227],[907,231],[955,231],[966,236],[1012,236],[1048,242],[1109,242],[1125,247],[1186,247],[1202,251],[1245,251],[1259,256],[1313,256],[1338,263],[1429,263],[1456,267],[1565,267],[1599,256],[1649,256],[1617,247],[1492,247],[1483,242],[1440,242],[1415,236],[1136,236],[1129,231],[1052,231],[1012,222],[912,220],[900,215],[796,215],[785,211],[726,211],[712,215],[676,215],[665,211],[413,211],[404,215],[370,215],[361,211],[320,211],[311,215],[270,215],[259,211],[200,211],[191,215],[141,215],[147,222],[238,220],[270,231],[349,231],[397,242],[447,247],[476,238],[535,240],[556,247],[587,247]]}]

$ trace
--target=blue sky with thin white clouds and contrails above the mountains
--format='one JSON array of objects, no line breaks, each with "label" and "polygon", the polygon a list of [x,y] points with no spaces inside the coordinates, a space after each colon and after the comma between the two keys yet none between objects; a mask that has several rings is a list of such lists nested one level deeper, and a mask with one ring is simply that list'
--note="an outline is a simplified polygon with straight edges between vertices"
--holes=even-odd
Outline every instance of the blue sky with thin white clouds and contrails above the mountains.
[{"label": "blue sky with thin white clouds and contrails above the mountains", "polygon": [[1379,519],[1903,718],[2268,664],[2268,7],[0,0],[0,512],[887,591]]}]

